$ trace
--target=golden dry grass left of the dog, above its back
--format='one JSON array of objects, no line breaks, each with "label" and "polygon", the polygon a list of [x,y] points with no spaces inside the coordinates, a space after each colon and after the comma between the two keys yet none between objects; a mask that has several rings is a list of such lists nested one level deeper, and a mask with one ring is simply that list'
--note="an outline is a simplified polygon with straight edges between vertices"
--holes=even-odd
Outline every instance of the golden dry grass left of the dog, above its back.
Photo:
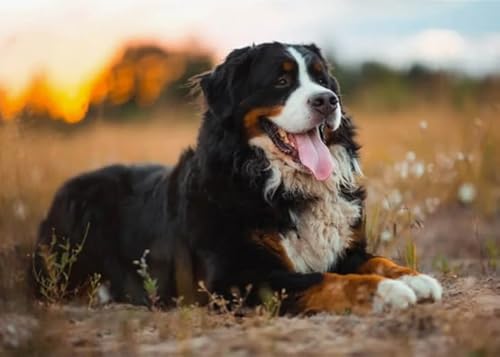
[{"label": "golden dry grass left of the dog, above its back", "polygon": [[32,241],[55,190],[72,175],[115,162],[175,163],[194,144],[197,128],[189,118],[186,124],[172,122],[178,116],[186,114],[166,113],[165,120],[146,125],[98,123],[71,132],[0,126],[0,244]]}]

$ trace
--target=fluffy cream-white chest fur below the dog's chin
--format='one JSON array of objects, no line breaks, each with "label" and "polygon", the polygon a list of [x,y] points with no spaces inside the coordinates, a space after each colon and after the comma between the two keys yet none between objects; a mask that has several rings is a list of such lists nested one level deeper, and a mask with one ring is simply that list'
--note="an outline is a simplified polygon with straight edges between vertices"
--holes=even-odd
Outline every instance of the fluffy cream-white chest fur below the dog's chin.
[{"label": "fluffy cream-white chest fur below the dog's chin", "polygon": [[[268,143],[258,144],[263,147]],[[335,162],[334,174],[329,180],[319,182],[284,163],[272,150],[266,150],[272,176],[265,195],[272,195],[283,184],[288,191],[317,197],[300,213],[290,212],[297,230],[282,236],[281,244],[296,272],[326,272],[349,246],[351,227],[361,215],[359,202],[349,202],[339,195],[341,184],[355,189],[355,176],[361,174],[359,166],[342,146],[335,145],[330,152]]]}]

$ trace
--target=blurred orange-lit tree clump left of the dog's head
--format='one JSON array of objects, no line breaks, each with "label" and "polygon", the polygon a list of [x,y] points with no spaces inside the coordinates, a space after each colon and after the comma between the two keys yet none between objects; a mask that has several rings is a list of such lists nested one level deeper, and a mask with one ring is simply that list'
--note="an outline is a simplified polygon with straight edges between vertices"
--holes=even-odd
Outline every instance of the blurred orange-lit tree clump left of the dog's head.
[{"label": "blurred orange-lit tree clump left of the dog's head", "polygon": [[104,70],[92,91],[91,113],[135,113],[187,93],[190,76],[212,65],[205,53],[169,51],[156,45],[135,45]]}]

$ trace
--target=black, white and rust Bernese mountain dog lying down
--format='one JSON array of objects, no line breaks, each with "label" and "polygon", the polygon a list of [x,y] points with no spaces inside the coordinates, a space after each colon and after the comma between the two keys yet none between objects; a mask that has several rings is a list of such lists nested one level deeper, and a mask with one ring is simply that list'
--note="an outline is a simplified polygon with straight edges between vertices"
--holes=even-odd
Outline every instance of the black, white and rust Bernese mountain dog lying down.
[{"label": "black, white and rust Bernese mountain dog lying down", "polygon": [[98,273],[112,300],[132,304],[151,303],[141,257],[163,306],[206,302],[199,282],[228,298],[248,291],[248,304],[285,291],[291,314],[441,299],[431,276],[366,250],[356,128],[316,45],[236,49],[193,83],[206,107],[195,148],[173,167],[67,181],[40,224],[35,275],[55,239],[81,247],[70,289]]}]

